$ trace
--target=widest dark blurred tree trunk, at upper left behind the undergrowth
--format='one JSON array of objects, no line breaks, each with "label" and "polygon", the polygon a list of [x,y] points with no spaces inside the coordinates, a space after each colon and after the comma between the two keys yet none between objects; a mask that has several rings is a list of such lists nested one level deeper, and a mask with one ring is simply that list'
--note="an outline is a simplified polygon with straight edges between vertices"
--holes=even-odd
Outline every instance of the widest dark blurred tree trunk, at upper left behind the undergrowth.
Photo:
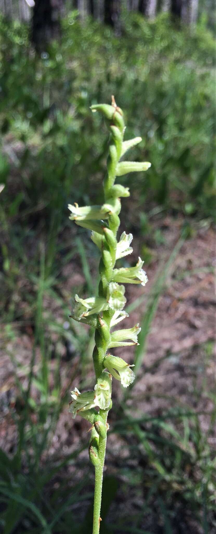
[{"label": "widest dark blurred tree trunk, at upper left behind the undergrowth", "polygon": [[35,0],[31,40],[37,50],[43,49],[52,38],[60,37],[60,7],[58,0]]}]

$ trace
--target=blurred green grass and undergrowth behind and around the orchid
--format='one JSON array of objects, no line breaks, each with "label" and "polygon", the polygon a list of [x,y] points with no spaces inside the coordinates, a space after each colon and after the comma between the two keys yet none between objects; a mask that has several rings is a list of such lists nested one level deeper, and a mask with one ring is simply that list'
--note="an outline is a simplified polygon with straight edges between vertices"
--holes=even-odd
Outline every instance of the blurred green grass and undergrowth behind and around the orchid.
[{"label": "blurred green grass and undergrowth behind and around the orchid", "polygon": [[[137,372],[168,268],[194,227],[214,221],[211,24],[204,15],[189,28],[167,13],[148,20],[123,10],[121,37],[114,30],[92,18],[80,20],[72,11],[61,20],[60,40],[36,52],[28,25],[0,19],[0,182],[5,185],[0,309],[2,346],[10,355],[15,384],[12,392],[5,384],[1,391],[3,412],[15,428],[10,447],[0,452],[4,534],[90,534],[93,473],[82,456],[79,422],[73,427],[78,438],[72,452],[60,448],[49,456],[72,381],[79,376],[82,388],[90,383],[86,370],[93,332],[79,325],[69,329],[71,294],[64,289],[63,274],[69,264],[84,272],[76,289],[90,294],[96,287],[97,252],[85,232],[71,230],[67,213],[68,201],[101,201],[107,130],[89,106],[109,103],[114,94],[125,111],[126,138],[143,138],[133,159],[152,162],[136,182],[134,176],[127,179],[132,193],[130,211],[123,211],[128,231],[146,239],[152,233],[151,215],[160,213],[182,225],[147,301]],[[154,244],[163,244],[160,229],[152,235]],[[143,254],[151,264],[146,245]],[[139,304],[138,299],[131,310]],[[31,339],[28,364],[16,360],[10,349],[23,333]],[[211,342],[200,350],[210,358]],[[113,409],[111,431],[121,453],[108,453],[111,474],[104,479],[101,534],[213,532],[215,462],[208,436],[215,412],[203,433],[196,411],[178,399],[161,417],[142,412],[139,417],[139,412],[134,418],[130,395]],[[212,391],[204,389],[204,395],[215,400]],[[127,498],[129,504],[136,502],[130,514]],[[113,500],[117,504],[106,522]]]}]

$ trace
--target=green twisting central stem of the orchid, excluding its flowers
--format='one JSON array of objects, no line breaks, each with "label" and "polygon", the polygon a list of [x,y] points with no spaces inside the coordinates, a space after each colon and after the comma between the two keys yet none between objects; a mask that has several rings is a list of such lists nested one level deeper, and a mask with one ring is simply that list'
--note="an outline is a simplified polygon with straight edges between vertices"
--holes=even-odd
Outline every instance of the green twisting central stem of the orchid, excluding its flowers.
[{"label": "green twisting central stem of the orchid, excluding its flowers", "polygon": [[[117,164],[121,156],[122,140],[123,140],[123,129],[124,122],[123,117],[121,116],[120,108],[117,108],[114,97],[112,100],[113,106],[113,115],[112,121],[114,125],[111,128],[111,143],[110,143],[110,153],[107,159],[107,175],[104,179],[104,197],[105,201],[112,203],[113,212],[110,214],[108,219],[109,230],[106,230],[105,237],[103,240],[102,246],[102,257],[99,263],[99,274],[101,276],[101,281],[99,282],[99,296],[106,298],[107,287],[109,282],[112,280],[113,268],[115,265],[115,250],[117,247],[117,231],[120,224],[119,212],[121,209],[120,199],[112,198],[111,188],[115,182]],[[119,113],[120,112],[120,113]],[[107,310],[103,312],[103,321],[106,328],[110,331],[110,321],[113,315],[112,310]],[[101,330],[98,329],[95,332],[95,349],[93,354],[94,367],[96,379],[103,371],[103,360],[106,355],[107,348],[109,347],[110,339],[109,332],[106,336],[103,333],[103,327]],[[99,410],[99,415],[101,415],[103,422],[106,426],[107,415],[109,410]],[[102,521],[100,517],[101,513],[101,497],[102,497],[102,483],[103,483],[103,469],[104,469],[104,460],[106,452],[106,438],[102,439],[99,437],[98,442],[98,458],[99,465],[95,467],[95,495],[94,495],[94,519],[93,519],[93,534],[99,533],[99,524]]]}]

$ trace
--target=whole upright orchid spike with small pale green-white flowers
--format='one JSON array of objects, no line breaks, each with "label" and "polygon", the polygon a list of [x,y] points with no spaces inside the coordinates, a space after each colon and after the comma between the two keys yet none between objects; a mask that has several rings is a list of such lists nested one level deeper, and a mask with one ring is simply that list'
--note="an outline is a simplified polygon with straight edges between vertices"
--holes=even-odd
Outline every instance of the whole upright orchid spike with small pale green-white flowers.
[{"label": "whole upright orchid spike with small pale green-white flowers", "polygon": [[95,496],[93,534],[99,533],[101,522],[101,496],[103,468],[106,450],[106,436],[109,425],[107,415],[112,407],[112,378],[119,380],[127,388],[135,379],[132,365],[122,358],[112,356],[114,347],[137,345],[139,325],[126,329],[114,329],[120,321],[128,317],[123,311],[126,304],[123,284],[142,284],[145,286],[147,276],[143,270],[143,261],[138,258],[134,267],[115,268],[115,262],[131,254],[132,234],[123,232],[117,239],[121,210],[120,197],[129,197],[128,187],[115,184],[115,178],[128,172],[145,171],[151,163],[120,161],[122,156],[142,140],[135,137],[124,141],[124,120],[122,110],[112,97],[112,104],[98,104],[91,107],[93,112],[101,112],[110,130],[109,156],[107,174],[104,179],[104,204],[102,206],[79,207],[77,203],[69,204],[70,219],[79,226],[92,230],[92,240],[101,250],[99,262],[100,282],[98,296],[82,299],[75,295],[71,317],[76,321],[95,328],[95,348],[93,362],[96,384],[94,391],[80,393],[77,388],[71,391],[70,412],[72,417],[81,415],[92,428],[89,444],[89,459],[95,467]]}]

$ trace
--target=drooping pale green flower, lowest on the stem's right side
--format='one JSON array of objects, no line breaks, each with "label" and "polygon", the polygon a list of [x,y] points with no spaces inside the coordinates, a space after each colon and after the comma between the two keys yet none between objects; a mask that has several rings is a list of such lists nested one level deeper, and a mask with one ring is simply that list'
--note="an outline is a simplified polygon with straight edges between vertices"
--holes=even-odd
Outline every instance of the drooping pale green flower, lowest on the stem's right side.
[{"label": "drooping pale green flower, lowest on the stem's right side", "polygon": [[103,365],[117,380],[121,381],[123,388],[127,388],[134,382],[135,374],[132,372],[132,365],[127,364],[118,356],[109,354],[104,358]]}]

